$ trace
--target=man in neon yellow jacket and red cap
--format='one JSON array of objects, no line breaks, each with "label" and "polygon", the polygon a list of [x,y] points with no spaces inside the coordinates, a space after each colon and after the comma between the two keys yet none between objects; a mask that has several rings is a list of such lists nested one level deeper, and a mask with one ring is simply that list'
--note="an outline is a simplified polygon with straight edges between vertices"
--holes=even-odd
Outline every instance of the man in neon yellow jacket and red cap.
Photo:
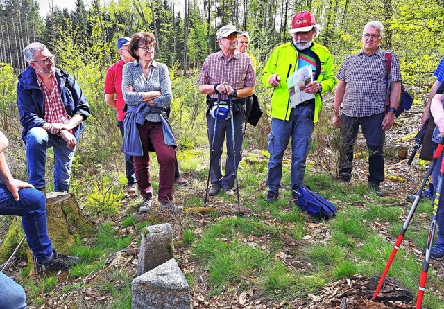
[{"label": "man in neon yellow jacket and red cap", "polygon": [[[321,27],[307,11],[293,17],[289,33],[292,42],[284,43],[271,53],[264,70],[262,82],[273,87],[271,95],[271,132],[268,136],[268,175],[266,202],[278,199],[282,179],[282,159],[291,137],[291,188],[296,189],[304,179],[305,161],[310,151],[314,123],[322,108],[321,94],[336,84],[330,51],[314,42]],[[298,69],[309,66],[313,81],[305,85],[307,94],[314,99],[305,100],[291,107],[287,78]]]}]

